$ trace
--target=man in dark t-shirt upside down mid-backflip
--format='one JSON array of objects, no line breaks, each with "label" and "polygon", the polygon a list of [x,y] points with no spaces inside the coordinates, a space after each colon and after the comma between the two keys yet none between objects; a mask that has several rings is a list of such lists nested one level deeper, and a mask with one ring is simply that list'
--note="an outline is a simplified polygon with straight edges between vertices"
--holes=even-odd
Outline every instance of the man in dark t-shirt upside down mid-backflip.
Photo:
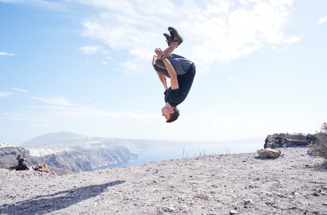
[{"label": "man in dark t-shirt upside down mid-backflip", "polygon": [[[169,47],[165,51],[160,48],[154,50],[156,55],[153,56],[152,66],[166,90],[166,105],[161,109],[162,116],[166,118],[166,122],[173,122],[179,116],[177,105],[185,100],[192,87],[195,65],[185,57],[173,54],[183,42],[183,38],[172,27],[169,27],[168,31],[170,35],[165,33],[164,36]],[[166,77],[170,78],[170,88],[167,87]]]}]

